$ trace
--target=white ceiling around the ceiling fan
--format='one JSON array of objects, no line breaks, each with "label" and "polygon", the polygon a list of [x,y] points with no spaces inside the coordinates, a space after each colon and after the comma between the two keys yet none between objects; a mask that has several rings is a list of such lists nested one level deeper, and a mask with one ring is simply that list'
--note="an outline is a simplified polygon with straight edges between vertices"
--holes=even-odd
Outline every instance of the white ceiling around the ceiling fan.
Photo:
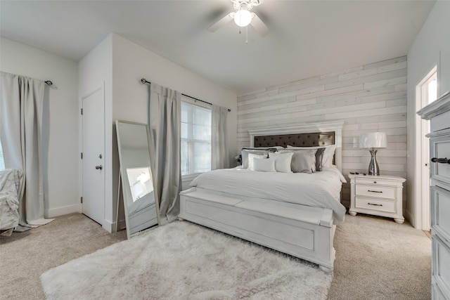
[{"label": "white ceiling around the ceiling fan", "polygon": [[405,56],[435,1],[277,1],[253,8],[271,32],[229,22],[223,1],[0,1],[1,36],[82,59],[110,32],[238,93]]}]

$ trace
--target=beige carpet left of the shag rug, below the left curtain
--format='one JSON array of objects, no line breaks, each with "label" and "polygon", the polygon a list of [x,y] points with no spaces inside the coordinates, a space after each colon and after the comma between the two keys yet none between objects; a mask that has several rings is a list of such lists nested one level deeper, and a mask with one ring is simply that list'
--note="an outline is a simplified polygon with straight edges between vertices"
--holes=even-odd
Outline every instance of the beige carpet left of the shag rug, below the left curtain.
[{"label": "beige carpet left of the shag rug, below the left curtain", "polygon": [[126,239],[125,231],[110,234],[82,214],[0,237],[0,299],[45,299],[39,276],[46,270]]}]

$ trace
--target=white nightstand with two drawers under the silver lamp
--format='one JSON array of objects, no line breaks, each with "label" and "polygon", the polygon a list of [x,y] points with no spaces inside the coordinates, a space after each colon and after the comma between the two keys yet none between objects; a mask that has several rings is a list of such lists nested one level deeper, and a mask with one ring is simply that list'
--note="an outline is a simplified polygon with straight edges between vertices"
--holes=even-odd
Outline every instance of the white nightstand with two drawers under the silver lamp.
[{"label": "white nightstand with two drawers under the silver lamp", "polygon": [[349,174],[350,209],[349,214],[373,214],[394,218],[397,223],[405,221],[403,217],[402,190],[405,178],[391,175]]}]

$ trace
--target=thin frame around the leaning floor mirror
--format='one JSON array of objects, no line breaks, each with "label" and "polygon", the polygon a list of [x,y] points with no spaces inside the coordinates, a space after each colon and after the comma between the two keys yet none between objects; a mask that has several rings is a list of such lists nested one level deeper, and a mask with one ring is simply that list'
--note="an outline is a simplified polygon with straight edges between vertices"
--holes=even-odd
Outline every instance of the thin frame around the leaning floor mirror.
[{"label": "thin frame around the leaning floor mirror", "polygon": [[[155,207],[156,207],[156,216],[158,219],[158,223],[155,226],[151,226],[149,228],[140,230],[136,233],[130,233],[129,230],[129,214],[128,214],[128,194],[125,193],[125,189],[129,188],[129,186],[127,186],[128,183],[128,174],[127,174],[127,170],[123,169],[123,164],[122,164],[122,150],[121,150],[121,143],[120,143],[120,132],[119,132],[119,124],[123,123],[123,124],[133,124],[133,125],[141,125],[141,126],[145,126],[146,127],[146,132],[147,132],[147,148],[148,148],[148,157],[150,159],[150,173],[151,173],[151,177],[152,177],[152,181],[153,181],[153,190],[155,191]],[[119,188],[122,188],[122,193],[117,193],[117,197],[120,197],[120,194],[122,194],[122,202],[124,204],[124,214],[125,214],[125,226],[127,229],[127,239],[129,239],[130,237],[134,237],[135,235],[140,235],[142,233],[145,233],[148,230],[152,230],[154,228],[157,228],[158,226],[161,225],[161,221],[160,221],[160,203],[159,203],[159,199],[158,199],[158,193],[156,190],[156,185],[155,185],[155,181],[154,181],[154,177],[153,177],[153,166],[152,166],[152,159],[151,159],[151,153],[150,153],[150,129],[148,128],[148,124],[145,123],[138,123],[138,122],[129,122],[129,121],[122,121],[122,120],[115,120],[115,130],[116,130],[116,136],[117,136],[117,150],[118,150],[118,154],[119,154],[119,163],[120,163],[120,186]],[[130,191],[131,192],[131,191]],[[117,200],[117,211],[119,209],[119,205],[120,205],[120,199]],[[133,200],[131,199],[131,202]],[[116,223],[119,223],[118,220],[118,214],[117,214],[117,220]]]}]

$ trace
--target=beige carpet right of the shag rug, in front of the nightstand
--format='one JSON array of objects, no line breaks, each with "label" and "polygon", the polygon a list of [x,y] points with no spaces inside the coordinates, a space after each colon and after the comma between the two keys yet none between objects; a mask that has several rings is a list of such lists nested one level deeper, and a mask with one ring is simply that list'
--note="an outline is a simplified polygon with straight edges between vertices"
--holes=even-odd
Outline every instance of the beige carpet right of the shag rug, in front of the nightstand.
[{"label": "beige carpet right of the shag rug, in front of the nightstand", "polygon": [[335,249],[328,299],[431,299],[431,240],[409,223],[347,214]]}]

